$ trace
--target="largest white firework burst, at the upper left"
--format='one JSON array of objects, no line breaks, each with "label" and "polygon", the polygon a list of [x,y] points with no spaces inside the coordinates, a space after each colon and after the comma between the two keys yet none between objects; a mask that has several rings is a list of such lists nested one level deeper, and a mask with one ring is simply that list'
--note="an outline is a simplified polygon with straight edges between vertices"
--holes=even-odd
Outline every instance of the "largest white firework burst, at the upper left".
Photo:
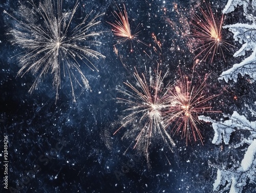
[{"label": "largest white firework burst, at the upper left", "polygon": [[[65,13],[62,12],[62,1],[60,0],[57,2],[46,0],[44,3],[39,3],[38,7],[32,1],[29,4],[32,6],[31,9],[23,5],[21,7],[30,11],[24,12],[21,9],[23,11],[19,12],[19,16],[26,18],[26,22],[17,19],[5,11],[17,22],[16,29],[10,30],[9,33],[14,37],[12,43],[25,49],[24,53],[22,53],[23,56],[20,57],[22,68],[18,71],[18,75],[23,76],[29,71],[33,74],[39,72],[29,90],[31,93],[36,88],[41,76],[51,70],[51,73],[54,74],[53,87],[56,89],[57,100],[62,66],[63,75],[66,76],[68,74],[69,76],[72,96],[75,100],[72,77],[74,77],[75,82],[79,85],[81,84],[72,69],[80,74],[84,87],[90,89],[89,81],[80,70],[79,61],[86,63],[94,71],[96,67],[88,57],[104,58],[102,54],[90,48],[92,45],[100,44],[98,41],[90,40],[90,38],[100,35],[97,32],[90,32],[90,29],[100,23],[96,19],[101,15],[97,15],[88,22],[87,20],[91,12],[80,24],[71,27],[78,8],[78,2],[76,2],[71,11]],[[35,21],[39,18],[42,20],[41,25],[38,25],[37,21]]]}]

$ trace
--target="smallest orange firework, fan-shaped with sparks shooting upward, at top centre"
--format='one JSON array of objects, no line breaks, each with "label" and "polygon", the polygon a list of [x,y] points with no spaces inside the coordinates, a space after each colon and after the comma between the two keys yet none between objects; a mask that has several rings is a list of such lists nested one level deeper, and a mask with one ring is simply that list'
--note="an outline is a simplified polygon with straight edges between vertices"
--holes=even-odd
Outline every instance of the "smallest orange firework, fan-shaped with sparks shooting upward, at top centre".
[{"label": "smallest orange firework, fan-shaped with sparks shooting upward, at top centre", "polygon": [[[113,14],[116,18],[115,23],[110,23],[110,22],[107,22],[107,23],[109,23],[113,27],[112,31],[118,37],[118,43],[122,44],[128,40],[134,40],[138,36],[139,25],[134,30],[134,33],[132,33],[125,6],[123,5],[123,12],[120,11],[119,8],[118,10],[119,10],[119,13],[114,11],[115,14]],[[131,52],[133,52],[132,42],[131,42]]]}]

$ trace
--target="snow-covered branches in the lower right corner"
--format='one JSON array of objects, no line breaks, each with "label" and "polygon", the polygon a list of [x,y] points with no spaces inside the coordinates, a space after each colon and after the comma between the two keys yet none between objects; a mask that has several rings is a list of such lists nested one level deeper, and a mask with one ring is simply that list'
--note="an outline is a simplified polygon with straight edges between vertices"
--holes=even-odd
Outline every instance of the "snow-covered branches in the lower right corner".
[{"label": "snow-covered branches in the lower right corner", "polygon": [[248,138],[241,137],[241,142],[234,145],[234,148],[244,144],[249,144],[245,147],[244,158],[241,161],[233,160],[231,168],[227,168],[225,163],[217,167],[217,178],[213,184],[214,192],[241,193],[247,183],[256,184],[256,121],[248,121],[245,116],[233,112],[228,120],[217,122],[209,117],[200,116],[200,120],[211,122],[215,131],[212,143],[221,144],[222,140],[225,144],[229,143],[230,135],[237,130],[245,130],[250,133]]}]

